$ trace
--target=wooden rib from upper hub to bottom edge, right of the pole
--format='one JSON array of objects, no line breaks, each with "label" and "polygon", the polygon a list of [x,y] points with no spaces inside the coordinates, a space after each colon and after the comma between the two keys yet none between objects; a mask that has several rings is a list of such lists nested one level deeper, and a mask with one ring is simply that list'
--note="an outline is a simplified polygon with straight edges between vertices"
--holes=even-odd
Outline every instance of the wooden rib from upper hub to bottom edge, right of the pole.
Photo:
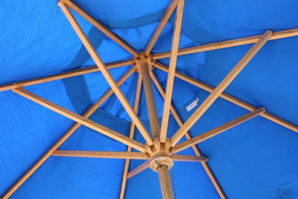
[{"label": "wooden rib from upper hub to bottom edge, right of the pole", "polygon": [[[161,87],[161,85],[159,84],[157,78],[155,77],[155,75],[153,74],[152,71],[150,71],[150,77],[151,77],[153,83],[155,84],[158,92],[160,93],[161,97],[164,99],[165,92],[164,92],[163,88]],[[175,110],[175,108],[172,104],[170,106],[170,110],[171,110],[175,120],[177,121],[178,125],[181,127],[183,125],[183,122],[182,122],[180,116],[178,115],[177,111]],[[189,132],[185,133],[185,137],[188,140],[191,139],[191,136],[190,136]],[[199,149],[196,145],[192,145],[191,147],[192,147],[192,149],[194,150],[194,152],[197,156],[201,156],[201,153],[200,153],[200,151],[199,151]],[[212,172],[211,172],[210,168],[208,167],[207,163],[206,162],[201,162],[201,163],[202,163],[202,166],[205,169],[207,175],[209,176],[212,184],[214,185],[215,189],[219,193],[221,199],[225,199],[224,192],[222,191],[220,185],[218,184],[217,180],[215,179],[214,175],[212,174]]]}]

